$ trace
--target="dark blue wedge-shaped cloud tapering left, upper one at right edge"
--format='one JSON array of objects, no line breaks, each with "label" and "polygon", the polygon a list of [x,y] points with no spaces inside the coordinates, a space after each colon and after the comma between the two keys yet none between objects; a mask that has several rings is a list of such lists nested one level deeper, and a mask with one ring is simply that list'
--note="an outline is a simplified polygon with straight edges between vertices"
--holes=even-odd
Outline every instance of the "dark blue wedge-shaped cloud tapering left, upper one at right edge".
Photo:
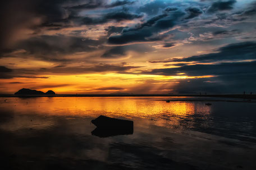
[{"label": "dark blue wedge-shaped cloud tapering left, upper one at right edge", "polygon": [[[246,60],[256,59],[256,43],[243,42],[230,44],[218,49],[218,53],[190,56],[182,59],[170,59],[159,61],[159,63],[167,62],[218,62],[221,60]],[[157,62],[154,62],[157,63]]]}]

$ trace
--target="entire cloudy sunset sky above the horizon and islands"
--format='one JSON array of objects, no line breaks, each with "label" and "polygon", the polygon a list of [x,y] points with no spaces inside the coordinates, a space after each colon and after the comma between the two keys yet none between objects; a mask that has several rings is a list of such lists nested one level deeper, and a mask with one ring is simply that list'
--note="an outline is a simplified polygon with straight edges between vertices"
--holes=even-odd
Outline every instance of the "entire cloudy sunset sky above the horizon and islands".
[{"label": "entire cloudy sunset sky above the horizon and islands", "polygon": [[1,2],[0,93],[256,93],[256,1]]}]

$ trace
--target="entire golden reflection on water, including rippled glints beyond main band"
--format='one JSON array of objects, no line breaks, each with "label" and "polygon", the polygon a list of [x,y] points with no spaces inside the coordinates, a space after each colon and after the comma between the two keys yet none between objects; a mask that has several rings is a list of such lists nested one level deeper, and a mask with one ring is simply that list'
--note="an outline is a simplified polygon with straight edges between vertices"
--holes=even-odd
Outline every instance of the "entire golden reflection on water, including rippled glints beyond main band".
[{"label": "entire golden reflection on water, including rippled glints beyond main band", "polygon": [[[170,97],[39,97],[39,98],[4,98],[0,107],[15,113],[26,115],[47,115],[72,117],[97,117],[106,115],[135,120],[153,120],[157,126],[175,127],[184,119],[193,119],[193,114],[204,114],[206,119],[211,107],[202,102],[173,101]],[[175,99],[173,97],[173,99]],[[177,99],[177,98],[176,98]],[[203,118],[204,118],[203,117]],[[30,120],[19,120],[19,126],[29,124]],[[24,122],[24,123],[22,123]],[[42,120],[36,125],[51,126],[53,122]]]}]

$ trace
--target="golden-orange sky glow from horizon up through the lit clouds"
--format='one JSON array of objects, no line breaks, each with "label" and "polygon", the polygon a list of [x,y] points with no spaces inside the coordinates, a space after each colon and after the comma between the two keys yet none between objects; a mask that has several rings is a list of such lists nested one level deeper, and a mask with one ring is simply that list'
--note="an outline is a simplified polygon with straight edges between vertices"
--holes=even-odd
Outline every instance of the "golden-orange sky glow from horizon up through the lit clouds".
[{"label": "golden-orange sky glow from horizon up through the lit clouds", "polygon": [[[71,30],[70,30],[71,31]],[[147,46],[147,45],[145,45]],[[152,46],[149,44],[148,46]],[[179,53],[173,53],[174,58],[182,58]],[[122,58],[100,58],[102,50],[93,52],[77,52],[72,55],[65,55],[62,58],[76,59],[75,63],[67,65],[54,62],[44,62],[34,56],[28,58],[15,58],[16,54],[26,53],[25,50],[17,50],[12,58],[1,58],[0,62],[7,65],[10,69],[16,69],[17,75],[21,77],[11,79],[1,79],[0,93],[13,94],[21,88],[36,89],[47,92],[49,89],[58,94],[108,94],[108,93],[175,93],[175,86],[185,79],[211,78],[214,75],[189,76],[186,73],[177,73],[176,75],[156,75],[150,73],[152,69],[179,68],[172,64],[175,63],[150,63],[148,61],[156,60],[156,56],[166,57],[168,53],[148,53],[141,57],[141,53],[130,51]],[[160,55],[161,54],[161,55]],[[171,54],[171,53],[170,53]],[[90,60],[90,55],[97,56],[92,58],[94,62],[85,63],[83,59]],[[161,58],[159,58],[161,60]],[[170,55],[167,59],[171,59]],[[81,62],[80,62],[81,60]],[[124,60],[124,63],[121,63]],[[117,67],[134,67],[123,71],[124,73],[115,73],[115,71],[106,71],[100,73],[83,73],[86,69],[102,66],[104,64]],[[58,67],[61,66],[61,67]],[[108,65],[107,65],[108,66]],[[77,70],[76,70],[77,68]],[[19,72],[19,69],[21,72]],[[74,73],[72,73],[74,72]],[[117,71],[116,71],[117,72]],[[161,73],[159,73],[161,74]],[[24,77],[22,77],[24,76]],[[27,77],[27,78],[26,78]],[[30,78],[28,78],[30,77]],[[40,78],[44,77],[44,78]],[[49,78],[47,78],[49,77]],[[181,81],[180,81],[181,80]],[[188,81],[189,82],[189,81]]]}]

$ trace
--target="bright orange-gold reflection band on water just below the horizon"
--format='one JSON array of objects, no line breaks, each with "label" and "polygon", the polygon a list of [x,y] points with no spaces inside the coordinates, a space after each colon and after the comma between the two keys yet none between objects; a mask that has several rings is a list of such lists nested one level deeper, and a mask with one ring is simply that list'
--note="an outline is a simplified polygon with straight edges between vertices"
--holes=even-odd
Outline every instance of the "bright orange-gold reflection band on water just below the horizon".
[{"label": "bright orange-gold reflection band on water just below the horizon", "polygon": [[[39,97],[8,98],[0,106],[7,106],[17,112],[36,112],[38,114],[94,116],[110,114],[120,117],[148,117],[162,113],[177,116],[193,114],[195,111],[205,112],[204,105],[194,102],[173,101],[166,103],[164,97]],[[2,100],[4,100],[2,98]],[[209,111],[209,110],[208,110]]]}]

